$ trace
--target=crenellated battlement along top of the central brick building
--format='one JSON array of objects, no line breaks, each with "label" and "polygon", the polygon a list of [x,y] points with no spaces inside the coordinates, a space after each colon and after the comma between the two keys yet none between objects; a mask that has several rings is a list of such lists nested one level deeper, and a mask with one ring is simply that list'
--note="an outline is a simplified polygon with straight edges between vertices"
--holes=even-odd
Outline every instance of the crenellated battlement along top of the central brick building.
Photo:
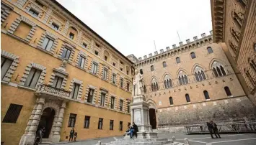
[{"label": "crenellated battlement along top of the central brick building", "polygon": [[[177,47],[177,45],[174,44],[174,45],[172,45],[172,49],[170,49],[170,47],[166,47],[165,51],[164,51],[164,49],[161,49],[160,52],[155,51],[154,55],[152,55],[152,53],[149,53],[149,57],[147,55],[144,55],[143,58],[138,57],[138,62],[141,62],[141,61],[144,61],[147,59],[151,59],[151,57],[155,57],[157,55],[163,55],[164,53],[167,53],[167,52],[172,52],[172,51],[182,49],[182,47],[184,47],[184,48],[200,47],[201,45],[203,45],[205,43],[213,42],[212,34],[213,34],[213,31],[211,30],[209,35],[206,35],[206,33],[202,33],[200,39],[198,39],[198,36],[193,37],[194,41],[192,41],[192,42],[190,42],[190,39],[186,39],[186,44],[183,44],[183,42],[179,42],[178,47]],[[138,62],[136,62],[136,63],[138,63]]]}]

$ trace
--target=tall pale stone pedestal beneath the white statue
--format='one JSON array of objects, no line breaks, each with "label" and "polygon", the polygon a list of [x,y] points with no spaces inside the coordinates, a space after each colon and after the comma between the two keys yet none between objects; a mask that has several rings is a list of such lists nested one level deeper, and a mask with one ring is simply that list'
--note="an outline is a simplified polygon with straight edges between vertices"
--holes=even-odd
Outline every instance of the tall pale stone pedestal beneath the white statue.
[{"label": "tall pale stone pedestal beneath the white statue", "polygon": [[154,139],[157,134],[152,132],[149,121],[149,104],[146,103],[144,95],[133,96],[131,106],[131,122],[138,126],[139,139]]}]

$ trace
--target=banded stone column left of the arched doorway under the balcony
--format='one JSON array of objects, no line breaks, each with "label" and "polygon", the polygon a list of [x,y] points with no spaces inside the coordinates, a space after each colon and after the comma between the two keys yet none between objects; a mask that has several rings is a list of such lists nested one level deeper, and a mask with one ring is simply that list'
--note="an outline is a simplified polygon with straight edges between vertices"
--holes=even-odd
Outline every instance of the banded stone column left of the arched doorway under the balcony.
[{"label": "banded stone column left of the arched doorway under the balcony", "polygon": [[37,103],[34,106],[34,110],[30,116],[30,121],[27,123],[25,134],[23,134],[22,139],[20,139],[19,145],[34,143],[37,126],[40,122],[44,104],[45,98],[37,98]]}]

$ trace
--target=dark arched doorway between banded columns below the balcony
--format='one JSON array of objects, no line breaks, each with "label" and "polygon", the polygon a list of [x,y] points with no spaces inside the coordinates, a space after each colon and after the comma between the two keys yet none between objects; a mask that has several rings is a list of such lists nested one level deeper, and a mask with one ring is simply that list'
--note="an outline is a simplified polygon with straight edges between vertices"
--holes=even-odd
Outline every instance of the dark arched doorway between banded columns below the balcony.
[{"label": "dark arched doorway between banded columns below the balcony", "polygon": [[40,122],[37,127],[37,129],[45,127],[45,134],[43,135],[43,138],[49,137],[50,130],[53,126],[54,116],[55,116],[55,111],[53,108],[45,108],[45,110],[43,110],[43,114],[40,118]]}]

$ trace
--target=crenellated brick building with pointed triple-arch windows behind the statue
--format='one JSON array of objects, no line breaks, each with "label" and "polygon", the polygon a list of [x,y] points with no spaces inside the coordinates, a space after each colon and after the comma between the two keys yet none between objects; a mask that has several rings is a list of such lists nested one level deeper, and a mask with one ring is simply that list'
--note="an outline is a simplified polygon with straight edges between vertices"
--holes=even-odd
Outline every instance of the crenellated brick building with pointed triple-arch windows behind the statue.
[{"label": "crenellated brick building with pointed triple-arch windows behind the statue", "polygon": [[206,123],[209,119],[255,119],[256,108],[244,93],[223,45],[201,34],[186,44],[146,55],[134,67],[144,75],[152,128]]}]

